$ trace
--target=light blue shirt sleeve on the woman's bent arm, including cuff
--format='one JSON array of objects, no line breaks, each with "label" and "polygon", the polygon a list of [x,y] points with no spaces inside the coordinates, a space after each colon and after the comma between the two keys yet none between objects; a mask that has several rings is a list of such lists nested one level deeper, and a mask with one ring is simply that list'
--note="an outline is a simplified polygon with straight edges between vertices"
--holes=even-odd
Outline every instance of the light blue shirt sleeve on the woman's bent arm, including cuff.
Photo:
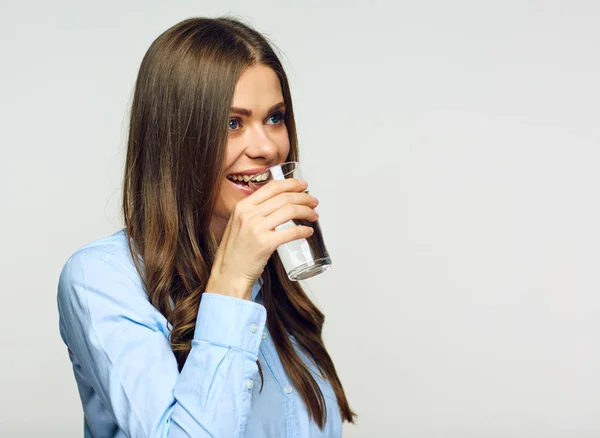
[{"label": "light blue shirt sleeve on the woman's bent arm, including cuff", "polygon": [[80,252],[58,285],[61,335],[119,428],[129,437],[243,436],[266,309],[204,293],[180,373],[162,315],[121,265]]}]

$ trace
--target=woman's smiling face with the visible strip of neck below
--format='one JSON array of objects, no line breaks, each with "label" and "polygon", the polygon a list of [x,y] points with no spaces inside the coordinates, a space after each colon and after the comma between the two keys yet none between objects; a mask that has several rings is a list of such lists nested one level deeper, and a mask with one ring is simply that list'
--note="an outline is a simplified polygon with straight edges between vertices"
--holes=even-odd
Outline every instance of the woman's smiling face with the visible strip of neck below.
[{"label": "woman's smiling face with the visible strip of neck below", "polygon": [[225,152],[224,177],[215,214],[213,231],[219,237],[235,205],[251,192],[231,176],[252,175],[260,169],[283,163],[290,150],[284,123],[285,106],[275,72],[264,65],[247,68],[233,95],[229,136]]}]

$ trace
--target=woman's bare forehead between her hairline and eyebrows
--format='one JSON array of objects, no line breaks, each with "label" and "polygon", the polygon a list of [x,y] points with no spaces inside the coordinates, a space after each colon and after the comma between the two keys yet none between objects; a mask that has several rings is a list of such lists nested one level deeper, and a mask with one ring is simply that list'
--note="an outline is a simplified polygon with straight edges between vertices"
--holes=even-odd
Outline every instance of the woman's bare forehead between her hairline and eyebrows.
[{"label": "woman's bare forehead between her hairline and eyebrows", "polygon": [[273,69],[264,65],[253,65],[240,75],[235,86],[232,106],[260,112],[281,101],[281,84]]}]

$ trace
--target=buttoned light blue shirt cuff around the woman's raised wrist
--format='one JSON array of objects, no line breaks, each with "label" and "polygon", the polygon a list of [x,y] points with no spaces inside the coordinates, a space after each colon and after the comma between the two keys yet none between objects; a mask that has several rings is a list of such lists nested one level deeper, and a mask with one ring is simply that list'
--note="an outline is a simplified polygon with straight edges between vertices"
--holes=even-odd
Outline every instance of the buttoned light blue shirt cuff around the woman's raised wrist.
[{"label": "buttoned light blue shirt cuff around the woman's raised wrist", "polygon": [[261,304],[228,295],[204,292],[194,340],[225,345],[258,355],[267,322]]}]

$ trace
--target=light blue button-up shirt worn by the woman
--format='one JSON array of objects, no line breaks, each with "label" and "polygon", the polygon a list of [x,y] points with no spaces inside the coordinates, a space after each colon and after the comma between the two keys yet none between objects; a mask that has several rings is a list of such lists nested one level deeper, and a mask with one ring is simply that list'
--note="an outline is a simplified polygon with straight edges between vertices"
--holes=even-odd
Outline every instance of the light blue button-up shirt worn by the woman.
[{"label": "light blue button-up shirt worn by the woman", "polygon": [[124,230],[69,258],[58,310],[85,437],[341,436],[333,390],[297,348],[327,407],[323,430],[309,418],[266,330],[258,282],[252,301],[203,294],[181,373],[167,321],[148,300]]}]

